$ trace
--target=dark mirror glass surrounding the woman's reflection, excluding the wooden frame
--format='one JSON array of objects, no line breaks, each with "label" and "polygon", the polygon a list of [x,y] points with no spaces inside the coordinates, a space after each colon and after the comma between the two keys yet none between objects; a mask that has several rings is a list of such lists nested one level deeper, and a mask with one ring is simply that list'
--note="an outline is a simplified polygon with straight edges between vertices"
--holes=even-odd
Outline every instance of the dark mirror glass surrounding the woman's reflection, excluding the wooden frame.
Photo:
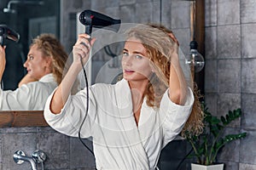
[{"label": "dark mirror glass surrounding the woman's reflection, excluding the wooden frame", "polygon": [[7,64],[3,73],[3,89],[14,90],[26,75],[23,63],[32,38],[43,32],[59,37],[60,1],[1,0],[0,16],[0,24],[7,25],[20,34],[18,43],[7,42]]}]

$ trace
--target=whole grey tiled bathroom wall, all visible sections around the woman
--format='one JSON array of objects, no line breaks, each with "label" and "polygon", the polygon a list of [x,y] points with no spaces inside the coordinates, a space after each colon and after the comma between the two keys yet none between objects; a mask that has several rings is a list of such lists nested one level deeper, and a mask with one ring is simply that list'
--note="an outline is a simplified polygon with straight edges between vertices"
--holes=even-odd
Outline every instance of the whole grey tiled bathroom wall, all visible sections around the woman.
[{"label": "whole grey tiled bathroom wall, all visible sections around the woman", "polygon": [[[241,120],[226,130],[247,132],[247,138],[227,145],[218,156],[226,170],[256,169],[256,1],[205,0],[206,73],[205,98],[209,110],[218,115],[241,107]],[[161,6],[160,6],[161,5]],[[172,28],[184,54],[189,53],[189,1],[180,0],[61,0],[61,42],[68,52],[76,41],[75,14],[93,9],[123,22],[157,22]],[[139,16],[139,17],[138,17]],[[0,129],[0,170],[30,169],[16,165],[15,150],[32,155],[36,149],[48,156],[46,169],[93,169],[94,158],[79,139],[57,133],[50,127]],[[89,143],[91,147],[91,143]],[[187,144],[173,142],[163,151],[161,169],[176,169],[187,152]],[[173,149],[172,149],[173,148]],[[173,161],[174,160],[174,161]],[[189,161],[182,169],[189,169]]]}]

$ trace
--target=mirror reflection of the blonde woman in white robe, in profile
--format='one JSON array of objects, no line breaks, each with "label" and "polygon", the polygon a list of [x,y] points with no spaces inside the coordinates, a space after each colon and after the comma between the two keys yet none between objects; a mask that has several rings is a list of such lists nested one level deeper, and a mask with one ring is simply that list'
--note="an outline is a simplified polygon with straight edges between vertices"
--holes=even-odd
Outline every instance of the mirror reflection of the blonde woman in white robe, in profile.
[{"label": "mirror reflection of the blonde woman in white robe, in profile", "polygon": [[[43,110],[49,94],[61,82],[62,71],[67,61],[67,53],[61,43],[50,34],[42,34],[33,39],[27,54],[26,82],[15,91],[0,89],[0,110]],[[5,69],[5,47],[0,47],[0,80]]]}]

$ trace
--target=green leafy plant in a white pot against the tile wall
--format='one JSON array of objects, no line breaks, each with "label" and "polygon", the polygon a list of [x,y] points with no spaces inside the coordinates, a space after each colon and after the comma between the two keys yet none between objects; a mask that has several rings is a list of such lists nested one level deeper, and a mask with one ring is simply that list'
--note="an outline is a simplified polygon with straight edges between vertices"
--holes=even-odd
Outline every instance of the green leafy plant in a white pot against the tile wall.
[{"label": "green leafy plant in a white pot against the tile wall", "polygon": [[190,156],[195,156],[197,160],[196,164],[191,164],[192,170],[216,170],[216,166],[220,167],[218,169],[223,169],[224,164],[219,165],[216,162],[216,157],[219,150],[224,147],[225,144],[228,144],[236,139],[243,139],[247,135],[247,133],[228,135],[223,134],[224,128],[230,124],[230,122],[233,122],[237,118],[241,117],[241,109],[229,111],[225,116],[218,118],[217,116],[212,116],[205,104],[202,104],[202,107],[202,111],[204,111],[203,132],[199,135],[185,133],[185,138],[189,141],[189,144],[191,144],[193,148],[193,152],[190,154]]}]

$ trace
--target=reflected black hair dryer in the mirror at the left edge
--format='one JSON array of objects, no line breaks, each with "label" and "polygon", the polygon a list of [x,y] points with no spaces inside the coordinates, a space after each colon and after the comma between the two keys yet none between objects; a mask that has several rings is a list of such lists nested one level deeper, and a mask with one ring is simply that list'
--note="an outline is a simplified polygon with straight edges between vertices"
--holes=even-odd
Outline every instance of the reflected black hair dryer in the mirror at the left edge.
[{"label": "reflected black hair dryer in the mirror at the left edge", "polygon": [[5,39],[18,42],[20,39],[20,34],[13,31],[8,26],[0,25],[0,45],[4,45]]}]

